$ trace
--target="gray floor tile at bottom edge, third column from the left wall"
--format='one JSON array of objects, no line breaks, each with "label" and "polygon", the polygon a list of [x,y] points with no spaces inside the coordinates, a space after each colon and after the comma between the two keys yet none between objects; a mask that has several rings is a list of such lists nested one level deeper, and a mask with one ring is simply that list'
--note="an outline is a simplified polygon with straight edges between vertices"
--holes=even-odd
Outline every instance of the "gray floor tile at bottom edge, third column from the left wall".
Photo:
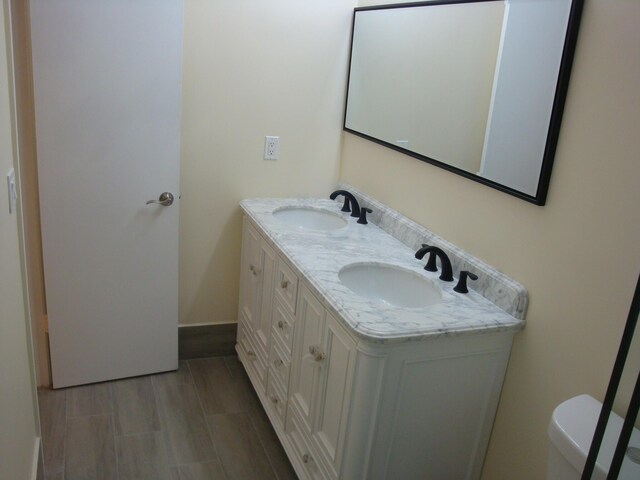
[{"label": "gray floor tile at bottom edge, third column from the left wall", "polygon": [[172,480],[159,432],[116,437],[120,480]]}]

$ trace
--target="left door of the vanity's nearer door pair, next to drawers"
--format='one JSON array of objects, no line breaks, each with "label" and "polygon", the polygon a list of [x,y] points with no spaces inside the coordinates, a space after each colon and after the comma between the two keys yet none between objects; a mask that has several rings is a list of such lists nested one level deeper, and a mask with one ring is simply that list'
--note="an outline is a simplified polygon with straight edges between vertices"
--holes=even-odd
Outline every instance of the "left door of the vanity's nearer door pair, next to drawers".
[{"label": "left door of the vanity's nearer door pair, next to drawers", "polygon": [[291,402],[298,411],[307,433],[313,428],[313,399],[319,388],[322,361],[310,353],[322,348],[324,309],[306,288],[300,289],[296,320],[294,352],[292,356],[293,376],[291,380]]}]

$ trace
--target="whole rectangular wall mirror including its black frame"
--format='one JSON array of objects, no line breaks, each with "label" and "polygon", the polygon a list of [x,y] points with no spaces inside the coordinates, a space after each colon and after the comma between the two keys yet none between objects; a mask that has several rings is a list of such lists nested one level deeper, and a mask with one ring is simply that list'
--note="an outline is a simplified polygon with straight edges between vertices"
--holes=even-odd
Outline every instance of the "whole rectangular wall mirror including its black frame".
[{"label": "whole rectangular wall mirror including its black frame", "polygon": [[356,8],[344,129],[544,205],[582,1]]}]

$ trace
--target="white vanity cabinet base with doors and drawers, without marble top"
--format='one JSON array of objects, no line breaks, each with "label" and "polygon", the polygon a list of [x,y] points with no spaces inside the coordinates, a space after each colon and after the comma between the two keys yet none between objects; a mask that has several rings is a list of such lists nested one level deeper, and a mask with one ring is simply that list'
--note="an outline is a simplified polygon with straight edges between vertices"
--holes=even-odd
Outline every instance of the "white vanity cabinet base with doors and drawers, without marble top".
[{"label": "white vanity cabinet base with doors and drawers, without marble top", "polygon": [[260,232],[236,349],[299,477],[479,478],[514,332],[364,340]]}]

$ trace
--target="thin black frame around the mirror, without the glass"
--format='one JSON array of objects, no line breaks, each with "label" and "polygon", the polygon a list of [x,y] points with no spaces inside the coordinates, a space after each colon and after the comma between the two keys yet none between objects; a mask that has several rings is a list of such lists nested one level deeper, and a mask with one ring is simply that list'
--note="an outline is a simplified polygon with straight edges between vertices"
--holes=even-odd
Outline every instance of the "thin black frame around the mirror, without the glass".
[{"label": "thin black frame around the mirror, without the glass", "polygon": [[578,40],[578,30],[580,27],[580,19],[582,17],[582,10],[584,7],[584,0],[572,0],[571,11],[569,13],[569,21],[567,23],[567,34],[565,36],[564,46],[562,50],[562,60],[560,62],[560,70],[558,72],[558,82],[556,84],[556,92],[553,100],[553,108],[551,111],[551,118],[549,120],[549,129],[547,132],[547,141],[545,144],[544,155],[542,159],[542,166],[540,168],[540,177],[538,180],[538,189],[535,195],[529,195],[519,190],[515,190],[501,183],[494,182],[473,173],[462,170],[458,167],[451,166],[447,163],[441,162],[434,158],[422,155],[420,153],[407,150],[384,140],[380,140],[375,137],[371,137],[365,133],[358,132],[347,127],[347,105],[349,102],[349,82],[351,79],[351,57],[353,55],[353,34],[355,30],[356,14],[360,11],[366,10],[387,10],[393,8],[408,8],[408,7],[421,7],[421,6],[434,6],[434,5],[450,5],[450,4],[462,4],[462,3],[478,3],[488,2],[495,0],[434,0],[415,3],[398,3],[388,5],[375,5],[370,7],[358,7],[353,10],[353,19],[351,23],[351,49],[349,51],[349,71],[347,75],[347,87],[346,98],[344,107],[344,121],[343,130],[362,138],[366,138],[372,142],[378,143],[385,147],[396,150],[400,153],[404,153],[411,157],[422,160],[423,162],[430,163],[437,167],[448,170],[452,173],[456,173],[470,180],[473,180],[483,185],[487,185],[496,190],[508,193],[514,197],[518,197],[527,202],[534,203],[536,205],[544,205],[547,200],[547,193],[549,191],[549,182],[551,180],[551,170],[553,167],[553,160],[556,154],[556,147],[558,144],[558,138],[560,135],[560,124],[562,123],[562,113],[564,111],[564,104],[567,97],[567,91],[569,89],[569,78],[571,76],[571,67],[573,65],[573,57],[575,54],[576,44]]}]

